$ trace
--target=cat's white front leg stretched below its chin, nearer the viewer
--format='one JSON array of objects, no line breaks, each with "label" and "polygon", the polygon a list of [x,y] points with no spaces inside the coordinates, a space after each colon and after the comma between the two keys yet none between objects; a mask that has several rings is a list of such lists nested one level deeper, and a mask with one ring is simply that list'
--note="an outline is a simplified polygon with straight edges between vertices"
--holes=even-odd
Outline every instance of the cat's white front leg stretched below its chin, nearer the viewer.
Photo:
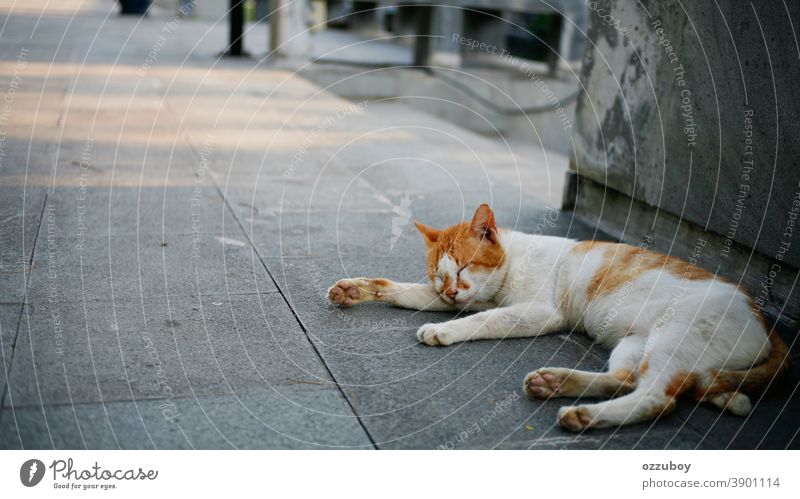
[{"label": "cat's white front leg stretched below its chin, nearer the viewer", "polygon": [[427,345],[446,346],[468,340],[540,336],[563,326],[564,316],[555,306],[521,303],[461,319],[425,324],[417,331],[417,338]]}]

